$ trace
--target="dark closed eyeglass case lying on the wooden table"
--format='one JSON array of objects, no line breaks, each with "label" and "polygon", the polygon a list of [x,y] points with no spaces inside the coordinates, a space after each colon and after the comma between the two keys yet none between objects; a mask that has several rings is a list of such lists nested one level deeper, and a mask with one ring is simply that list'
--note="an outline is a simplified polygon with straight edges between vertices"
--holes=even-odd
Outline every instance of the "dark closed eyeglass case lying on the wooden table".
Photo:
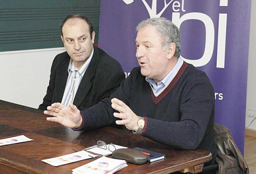
[{"label": "dark closed eyeglass case lying on the wooden table", "polygon": [[123,159],[132,164],[144,164],[147,162],[147,155],[134,149],[117,149],[112,152],[115,159]]}]

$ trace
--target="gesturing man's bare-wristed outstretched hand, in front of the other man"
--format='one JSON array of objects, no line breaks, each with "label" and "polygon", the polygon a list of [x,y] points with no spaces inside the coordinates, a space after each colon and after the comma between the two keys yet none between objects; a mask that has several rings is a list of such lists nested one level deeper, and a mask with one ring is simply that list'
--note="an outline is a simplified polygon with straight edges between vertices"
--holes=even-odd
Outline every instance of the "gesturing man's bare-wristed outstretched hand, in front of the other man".
[{"label": "gesturing man's bare-wristed outstretched hand, in front of the other man", "polygon": [[79,109],[73,104],[69,107],[61,103],[53,103],[47,107],[47,110],[43,112],[46,115],[53,117],[47,117],[46,120],[50,122],[58,122],[66,127],[79,127],[82,124],[82,117]]}]

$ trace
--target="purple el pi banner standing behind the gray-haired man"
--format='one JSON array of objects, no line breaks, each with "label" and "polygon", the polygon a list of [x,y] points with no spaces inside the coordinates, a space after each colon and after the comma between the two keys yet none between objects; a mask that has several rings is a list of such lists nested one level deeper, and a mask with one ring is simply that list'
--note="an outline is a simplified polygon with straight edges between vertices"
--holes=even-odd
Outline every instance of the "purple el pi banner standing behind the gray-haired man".
[{"label": "purple el pi banner standing behind the gray-haired man", "polygon": [[154,17],[180,28],[183,59],[204,71],[215,89],[215,122],[227,126],[244,152],[251,0],[102,0],[99,47],[138,66],[136,25]]}]

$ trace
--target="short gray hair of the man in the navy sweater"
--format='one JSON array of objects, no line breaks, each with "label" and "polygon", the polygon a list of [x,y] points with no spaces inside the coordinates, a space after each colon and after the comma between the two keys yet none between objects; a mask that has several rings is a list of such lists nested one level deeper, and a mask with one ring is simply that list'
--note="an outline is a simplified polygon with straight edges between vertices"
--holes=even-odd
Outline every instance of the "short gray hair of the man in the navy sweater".
[{"label": "short gray hair of the man in the navy sweater", "polygon": [[176,45],[174,56],[179,58],[181,55],[181,39],[179,28],[166,18],[151,18],[140,22],[136,30],[139,31],[145,26],[156,26],[156,30],[160,33],[162,38],[162,49],[166,50],[170,43]]}]

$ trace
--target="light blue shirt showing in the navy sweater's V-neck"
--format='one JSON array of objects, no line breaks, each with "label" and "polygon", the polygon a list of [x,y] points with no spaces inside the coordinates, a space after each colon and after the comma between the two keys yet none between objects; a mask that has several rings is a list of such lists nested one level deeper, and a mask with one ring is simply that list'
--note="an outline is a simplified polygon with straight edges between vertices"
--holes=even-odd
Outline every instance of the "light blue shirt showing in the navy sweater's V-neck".
[{"label": "light blue shirt showing in the navy sweater's V-neck", "polygon": [[176,65],[173,69],[166,75],[160,82],[156,83],[154,79],[146,77],[146,81],[149,82],[154,95],[159,96],[159,94],[170,84],[172,79],[177,75],[178,71],[180,70],[183,64],[183,59],[181,57],[178,58]]}]

